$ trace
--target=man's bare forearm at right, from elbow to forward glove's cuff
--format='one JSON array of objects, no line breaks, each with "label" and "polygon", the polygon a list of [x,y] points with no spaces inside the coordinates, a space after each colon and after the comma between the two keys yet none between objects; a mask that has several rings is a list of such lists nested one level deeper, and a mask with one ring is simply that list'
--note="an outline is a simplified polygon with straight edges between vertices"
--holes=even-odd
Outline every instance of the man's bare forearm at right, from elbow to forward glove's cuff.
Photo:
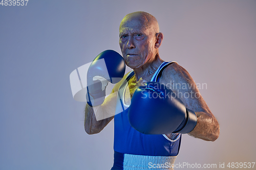
[{"label": "man's bare forearm at right, from elbow to forward glove's cuff", "polygon": [[196,112],[196,115],[197,125],[188,134],[203,140],[215,141],[220,134],[220,126],[217,119],[214,115],[205,112]]}]

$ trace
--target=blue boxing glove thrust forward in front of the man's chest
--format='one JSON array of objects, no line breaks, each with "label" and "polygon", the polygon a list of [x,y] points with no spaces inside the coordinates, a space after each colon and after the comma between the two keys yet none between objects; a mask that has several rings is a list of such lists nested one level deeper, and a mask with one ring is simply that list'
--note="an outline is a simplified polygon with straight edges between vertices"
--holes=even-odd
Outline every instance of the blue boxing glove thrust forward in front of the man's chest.
[{"label": "blue boxing glove thrust forward in front of the man's chest", "polygon": [[189,133],[197,125],[195,112],[158,82],[147,82],[136,89],[128,118],[131,126],[144,134]]}]

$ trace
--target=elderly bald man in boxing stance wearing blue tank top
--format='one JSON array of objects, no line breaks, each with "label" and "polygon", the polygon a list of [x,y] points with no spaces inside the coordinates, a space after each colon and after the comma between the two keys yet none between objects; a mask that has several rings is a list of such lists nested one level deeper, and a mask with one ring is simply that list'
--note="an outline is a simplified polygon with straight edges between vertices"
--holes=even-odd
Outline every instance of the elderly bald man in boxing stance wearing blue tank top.
[{"label": "elderly bald man in boxing stance wearing blue tank top", "polygon": [[[102,104],[89,102],[86,106],[84,128],[88,134],[99,133],[114,118],[112,170],[172,169],[181,133],[207,141],[219,136],[218,121],[188,72],[178,63],[160,58],[162,40],[154,16],[127,14],[120,23],[119,45],[125,64],[133,71],[115,85]],[[172,82],[183,86],[177,88]],[[89,93],[88,98],[93,98]],[[97,121],[99,112],[111,116]]]}]

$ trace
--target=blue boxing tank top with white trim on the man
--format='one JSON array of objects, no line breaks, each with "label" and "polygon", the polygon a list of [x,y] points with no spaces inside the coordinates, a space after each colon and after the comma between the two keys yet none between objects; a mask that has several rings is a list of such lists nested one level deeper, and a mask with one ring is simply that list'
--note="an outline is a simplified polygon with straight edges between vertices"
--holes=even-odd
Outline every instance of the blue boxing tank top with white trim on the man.
[{"label": "blue boxing tank top with white trim on the man", "polygon": [[[170,63],[172,62],[163,62],[151,81],[159,82],[161,70]],[[124,91],[128,85],[127,82],[134,75],[134,71],[131,71],[118,90],[114,117],[114,151],[133,155],[177,156],[180,149],[181,134],[176,139],[170,140],[166,135],[146,135],[131,127],[127,117],[129,106],[124,104]]]}]

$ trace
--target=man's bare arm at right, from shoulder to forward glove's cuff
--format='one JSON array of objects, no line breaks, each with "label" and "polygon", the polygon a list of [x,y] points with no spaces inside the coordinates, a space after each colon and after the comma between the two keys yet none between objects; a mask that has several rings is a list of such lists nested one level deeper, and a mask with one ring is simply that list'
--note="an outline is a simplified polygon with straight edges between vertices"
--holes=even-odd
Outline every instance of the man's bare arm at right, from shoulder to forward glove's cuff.
[{"label": "man's bare arm at right, from shoulder to forward glove's cuff", "polygon": [[193,131],[188,133],[189,135],[208,141],[215,141],[219,137],[219,123],[187,70],[177,63],[170,64],[163,70],[160,83],[172,89],[186,108],[196,113],[197,125]]}]

